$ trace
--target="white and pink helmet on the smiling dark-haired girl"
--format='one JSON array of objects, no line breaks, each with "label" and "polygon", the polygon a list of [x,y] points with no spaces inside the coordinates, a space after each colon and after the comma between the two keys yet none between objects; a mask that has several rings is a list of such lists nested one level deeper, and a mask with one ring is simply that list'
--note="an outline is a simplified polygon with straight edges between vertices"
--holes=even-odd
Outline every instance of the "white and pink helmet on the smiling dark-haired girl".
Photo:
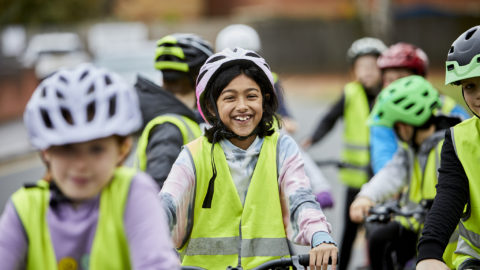
[{"label": "white and pink helmet on the smiling dark-haired girl", "polygon": [[208,122],[207,118],[205,117],[205,113],[203,112],[204,108],[202,108],[203,98],[207,87],[209,86],[210,80],[221,70],[229,67],[235,63],[239,62],[252,62],[255,64],[268,78],[270,83],[272,84],[273,89],[273,76],[272,72],[270,71],[270,66],[267,64],[265,59],[263,59],[260,55],[258,55],[254,51],[245,50],[242,48],[235,48],[235,49],[224,49],[221,52],[211,55],[205,64],[200,68],[200,73],[197,77],[197,87],[196,87],[196,94],[197,94],[197,107],[198,111],[202,118]]}]

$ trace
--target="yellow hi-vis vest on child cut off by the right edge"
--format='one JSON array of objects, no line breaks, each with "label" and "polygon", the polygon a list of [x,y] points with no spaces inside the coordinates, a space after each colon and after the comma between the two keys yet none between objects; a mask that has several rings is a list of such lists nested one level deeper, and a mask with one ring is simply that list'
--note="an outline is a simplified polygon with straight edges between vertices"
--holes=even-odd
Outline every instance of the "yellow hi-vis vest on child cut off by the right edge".
[{"label": "yellow hi-vis vest on child cut off by the right edge", "polygon": [[468,178],[471,213],[460,221],[460,238],[456,253],[480,259],[480,120],[477,117],[457,124],[452,131],[455,153]]}]

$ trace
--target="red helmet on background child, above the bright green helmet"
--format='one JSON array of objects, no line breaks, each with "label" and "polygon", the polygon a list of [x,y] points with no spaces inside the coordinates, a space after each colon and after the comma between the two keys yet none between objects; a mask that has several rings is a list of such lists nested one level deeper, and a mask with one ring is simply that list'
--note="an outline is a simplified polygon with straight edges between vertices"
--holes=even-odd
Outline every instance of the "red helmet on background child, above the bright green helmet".
[{"label": "red helmet on background child, above the bright green helmet", "polygon": [[390,46],[377,60],[380,69],[408,68],[416,75],[427,75],[428,57],[420,48],[399,42]]}]

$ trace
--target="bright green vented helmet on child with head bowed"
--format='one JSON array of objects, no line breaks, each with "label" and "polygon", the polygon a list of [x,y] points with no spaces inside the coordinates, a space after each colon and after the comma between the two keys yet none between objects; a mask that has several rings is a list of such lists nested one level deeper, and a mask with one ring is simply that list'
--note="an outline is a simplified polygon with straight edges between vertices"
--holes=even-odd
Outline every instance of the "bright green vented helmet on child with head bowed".
[{"label": "bright green vented helmet on child with head bowed", "polygon": [[393,127],[402,122],[419,127],[440,105],[438,91],[422,76],[411,75],[394,81],[380,92],[367,123]]}]

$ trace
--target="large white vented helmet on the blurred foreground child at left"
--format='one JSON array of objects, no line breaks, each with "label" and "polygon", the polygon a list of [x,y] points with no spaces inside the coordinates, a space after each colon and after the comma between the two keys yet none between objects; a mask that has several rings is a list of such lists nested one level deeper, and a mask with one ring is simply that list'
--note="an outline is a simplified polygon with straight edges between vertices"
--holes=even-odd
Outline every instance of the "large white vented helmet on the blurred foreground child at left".
[{"label": "large white vented helmet on the blurred foreground child at left", "polygon": [[32,145],[126,136],[142,124],[138,97],[117,74],[90,64],[61,69],[35,89],[24,115]]}]

